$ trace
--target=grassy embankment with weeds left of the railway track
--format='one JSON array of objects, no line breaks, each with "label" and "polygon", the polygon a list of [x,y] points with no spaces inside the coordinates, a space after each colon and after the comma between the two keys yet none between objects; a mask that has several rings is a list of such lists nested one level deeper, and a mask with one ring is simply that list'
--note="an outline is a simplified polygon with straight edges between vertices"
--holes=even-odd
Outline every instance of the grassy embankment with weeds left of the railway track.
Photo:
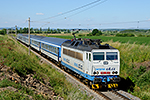
[{"label": "grassy embankment with weeds left of the railway track", "polygon": [[[11,69],[20,76],[27,74],[34,74],[34,78],[38,80],[47,80],[50,82],[56,94],[66,99],[87,99],[90,100],[85,93],[79,91],[79,87],[69,83],[62,73],[45,63],[40,63],[40,59],[31,53],[28,56],[28,50],[19,45],[18,42],[13,41],[11,37],[5,35],[0,36],[0,63],[11,67]],[[19,92],[2,91],[0,92],[0,99],[29,99],[22,95],[27,94],[35,100],[46,99],[42,95],[34,94],[30,89],[26,89],[21,84],[15,84],[7,79],[0,81],[0,88],[12,86],[19,90]]]}]

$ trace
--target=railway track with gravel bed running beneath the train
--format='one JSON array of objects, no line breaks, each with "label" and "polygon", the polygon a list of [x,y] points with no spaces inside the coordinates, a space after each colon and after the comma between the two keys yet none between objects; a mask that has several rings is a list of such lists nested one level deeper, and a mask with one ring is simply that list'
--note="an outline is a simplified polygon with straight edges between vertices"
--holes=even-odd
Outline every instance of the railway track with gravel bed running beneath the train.
[{"label": "railway track with gravel bed running beneath the train", "polygon": [[[12,36],[12,37],[17,41],[17,39],[14,36]],[[22,42],[20,42],[20,43],[22,45],[24,45],[25,47],[27,47],[27,45],[25,45],[24,43],[22,43]],[[59,72],[64,73],[66,78],[70,82],[72,82],[73,84],[76,84],[77,86],[80,85],[81,90],[86,91],[87,95],[94,96],[94,100],[140,100],[140,99],[130,99],[130,97],[126,97],[123,94],[118,93],[115,90],[110,90],[110,91],[92,90],[92,89],[90,89],[90,87],[87,84],[81,82],[80,79],[78,79],[77,77],[75,77],[75,76],[69,74],[68,72],[62,70],[60,67],[57,66],[57,64],[55,64],[52,61],[50,61],[49,59],[43,57],[42,55],[40,55],[36,51],[34,51],[32,49],[30,49],[30,50],[32,53],[37,55],[43,61],[47,62],[48,64],[51,64],[53,68],[56,68]]]}]

